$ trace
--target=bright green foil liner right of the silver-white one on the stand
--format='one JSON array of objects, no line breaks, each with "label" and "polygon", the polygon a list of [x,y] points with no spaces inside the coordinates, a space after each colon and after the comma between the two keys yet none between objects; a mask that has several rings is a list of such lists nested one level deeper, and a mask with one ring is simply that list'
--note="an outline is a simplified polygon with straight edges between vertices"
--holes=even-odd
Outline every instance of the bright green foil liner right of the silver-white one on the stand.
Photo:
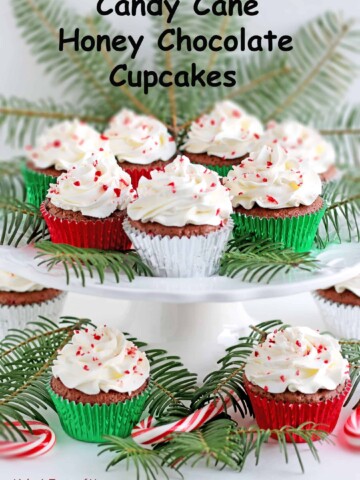
[{"label": "bright green foil liner right of the silver-white one on the stand", "polygon": [[254,233],[259,239],[282,243],[285,248],[292,248],[295,252],[308,252],[325,211],[326,205],[317,212],[288,218],[261,218],[235,213],[232,215],[234,237]]}]

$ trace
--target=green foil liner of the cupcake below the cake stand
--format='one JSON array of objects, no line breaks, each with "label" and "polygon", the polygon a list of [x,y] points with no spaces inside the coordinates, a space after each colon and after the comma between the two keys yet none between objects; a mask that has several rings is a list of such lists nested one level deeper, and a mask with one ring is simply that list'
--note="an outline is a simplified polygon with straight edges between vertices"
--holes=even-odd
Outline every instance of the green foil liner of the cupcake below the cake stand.
[{"label": "green foil liner of the cupcake below the cake stand", "polygon": [[89,443],[102,443],[105,435],[128,437],[144,412],[150,390],[148,387],[125,402],[91,405],[70,402],[56,394],[48,385],[64,431],[75,440]]}]

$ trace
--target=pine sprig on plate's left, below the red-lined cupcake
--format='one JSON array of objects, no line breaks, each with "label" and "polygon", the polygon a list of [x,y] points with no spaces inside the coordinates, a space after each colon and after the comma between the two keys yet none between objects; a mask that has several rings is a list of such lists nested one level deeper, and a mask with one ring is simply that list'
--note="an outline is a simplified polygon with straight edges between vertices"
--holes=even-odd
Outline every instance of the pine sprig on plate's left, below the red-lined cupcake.
[{"label": "pine sprig on plate's left, below the red-lined cupcake", "polygon": [[81,279],[83,286],[86,278],[98,277],[101,284],[106,275],[112,273],[116,283],[121,281],[124,274],[129,281],[136,275],[151,276],[150,269],[145,265],[135,252],[111,252],[90,248],[77,248],[71,245],[54,244],[48,241],[37,243],[39,253],[35,259],[41,260],[39,266],[45,265],[48,271],[61,265],[66,274],[66,283],[71,281],[71,273],[75,278]]}]

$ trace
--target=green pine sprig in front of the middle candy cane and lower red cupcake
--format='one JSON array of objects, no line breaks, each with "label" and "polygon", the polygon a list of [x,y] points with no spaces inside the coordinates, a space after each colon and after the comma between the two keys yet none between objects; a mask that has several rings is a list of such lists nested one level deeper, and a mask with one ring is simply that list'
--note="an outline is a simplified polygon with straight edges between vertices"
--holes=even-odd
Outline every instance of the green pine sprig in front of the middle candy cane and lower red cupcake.
[{"label": "green pine sprig in front of the middle candy cane and lower red cupcake", "polygon": [[[239,472],[253,452],[256,465],[259,463],[260,454],[271,436],[276,437],[286,463],[289,447],[295,450],[302,472],[304,465],[294,440],[296,436],[304,440],[316,461],[319,461],[319,456],[312,440],[313,436],[321,441],[331,442],[328,434],[319,430],[315,424],[313,426],[304,424],[298,428],[262,430],[256,426],[239,428],[232,420],[217,418],[194,432],[172,434],[167,443],[155,450],[137,445],[132,438],[124,440],[107,437],[107,442],[102,445],[99,455],[115,454],[108,469],[126,462],[127,468],[130,465],[135,467],[138,479],[168,479],[171,470],[181,475],[183,466],[195,467],[199,462],[207,467],[216,467],[220,470],[226,467]],[[291,440],[289,446],[286,437]]]}]

